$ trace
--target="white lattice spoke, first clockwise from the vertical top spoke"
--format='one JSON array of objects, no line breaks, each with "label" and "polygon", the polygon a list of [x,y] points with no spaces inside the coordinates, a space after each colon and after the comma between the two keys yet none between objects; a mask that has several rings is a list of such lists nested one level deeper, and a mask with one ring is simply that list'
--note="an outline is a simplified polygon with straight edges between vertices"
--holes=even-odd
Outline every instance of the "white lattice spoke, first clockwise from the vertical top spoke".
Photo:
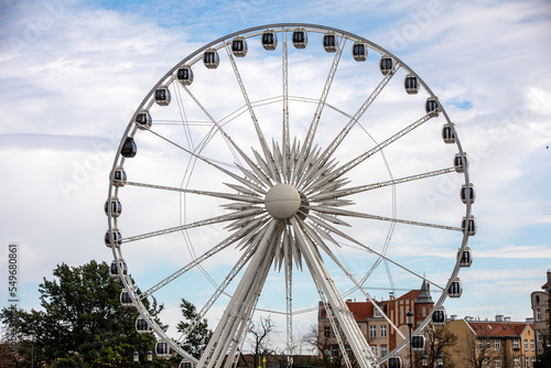
[{"label": "white lattice spoke, first clockwise from the vertical top spoke", "polygon": [[[315,138],[315,133],[317,130],[317,126],[320,123],[320,119],[322,117],[323,108],[325,107],[327,96],[329,95],[331,86],[333,84],[333,79],[335,78],[335,74],[337,72],[338,63],[341,61],[341,56],[343,54],[343,48],[344,48],[345,44],[346,44],[346,39],[344,36],[342,36],[341,41],[338,42],[338,46],[336,47],[335,56],[333,57],[333,62],[331,64],[329,72],[327,74],[327,78],[325,79],[325,85],[323,87],[322,95],[318,99],[316,110],[315,110],[314,116],[312,118],[312,122],[310,123],[309,131],[307,131],[306,137],[304,139],[304,144],[302,145],[302,151],[301,151],[301,154],[299,156],[299,166],[296,167],[295,173],[301,172],[300,163],[305,161],[304,159],[305,159],[305,156],[307,156],[310,154],[310,150],[312,149],[312,144],[314,143],[314,138]],[[295,176],[294,180],[299,181],[300,176]],[[299,184],[299,183],[296,183],[296,184]]]}]

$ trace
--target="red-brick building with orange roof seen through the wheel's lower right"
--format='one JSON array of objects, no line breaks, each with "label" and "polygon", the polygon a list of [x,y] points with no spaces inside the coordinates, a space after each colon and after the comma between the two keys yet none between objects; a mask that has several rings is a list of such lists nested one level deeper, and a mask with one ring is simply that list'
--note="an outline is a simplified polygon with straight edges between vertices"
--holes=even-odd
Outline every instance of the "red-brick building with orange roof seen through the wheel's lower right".
[{"label": "red-brick building with orange roof seen through the wheel's lower right", "polygon": [[[403,339],[396,332],[389,321],[381,314],[385,313],[388,320],[403,334],[409,335],[406,314],[413,313],[413,329],[420,324],[433,307],[434,303],[430,294],[430,285],[423,281],[420,290],[411,290],[400,297],[390,296],[386,301],[377,301],[377,307],[369,301],[356,302],[346,301],[361,334],[367,339],[372,353],[377,358],[386,356],[396,348]],[[335,338],[331,322],[327,318],[323,303],[320,302],[317,314],[318,343],[326,356],[335,359],[339,356],[338,342]],[[341,336],[343,336],[339,331]],[[343,337],[344,339],[344,337]],[[345,348],[349,354],[349,348]],[[407,353],[409,354],[409,353]]]}]

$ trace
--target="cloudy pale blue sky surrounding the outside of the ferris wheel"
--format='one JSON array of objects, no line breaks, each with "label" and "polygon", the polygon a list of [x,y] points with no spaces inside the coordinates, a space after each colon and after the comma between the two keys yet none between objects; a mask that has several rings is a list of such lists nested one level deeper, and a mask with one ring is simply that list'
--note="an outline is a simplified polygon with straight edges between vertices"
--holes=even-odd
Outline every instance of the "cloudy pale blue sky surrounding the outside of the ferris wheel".
[{"label": "cloudy pale blue sky surrounding the outside of the ferris wheel", "polygon": [[58,263],[110,262],[102,241],[109,171],[128,121],[159,79],[225,34],[284,22],[366,37],[439,95],[472,158],[477,188],[475,262],[462,272],[464,294],[446,302],[447,313],[531,316],[530,293],[551,269],[544,0],[1,1],[0,257],[6,269],[8,245],[19,245],[20,306],[39,307],[37,284]]}]

